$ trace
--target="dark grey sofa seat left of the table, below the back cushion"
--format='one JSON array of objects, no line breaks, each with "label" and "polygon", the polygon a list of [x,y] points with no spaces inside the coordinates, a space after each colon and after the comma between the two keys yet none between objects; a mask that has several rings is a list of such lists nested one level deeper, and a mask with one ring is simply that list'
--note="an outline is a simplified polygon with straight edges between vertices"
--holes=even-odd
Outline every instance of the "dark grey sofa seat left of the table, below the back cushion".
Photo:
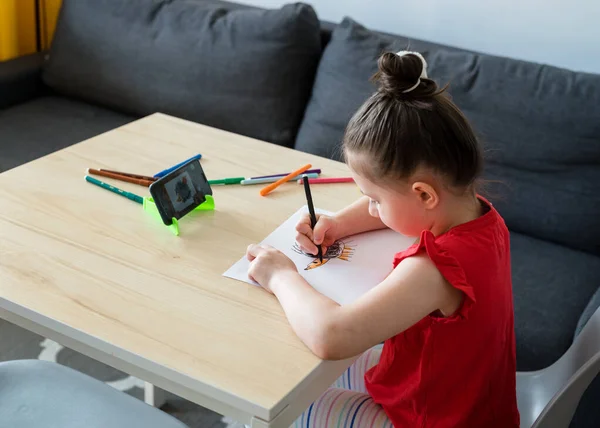
[{"label": "dark grey sofa seat left of the table, below the back cushion", "polygon": [[133,119],[102,107],[53,96],[0,110],[0,172]]}]

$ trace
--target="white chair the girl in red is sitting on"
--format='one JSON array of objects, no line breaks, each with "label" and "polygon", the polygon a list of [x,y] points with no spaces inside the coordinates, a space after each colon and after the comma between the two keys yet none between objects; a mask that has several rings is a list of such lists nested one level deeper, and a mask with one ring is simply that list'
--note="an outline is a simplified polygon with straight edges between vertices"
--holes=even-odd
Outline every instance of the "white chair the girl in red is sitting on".
[{"label": "white chair the girl in red is sitting on", "polygon": [[517,372],[522,428],[568,428],[589,384],[600,372],[600,308],[571,347],[551,366]]}]

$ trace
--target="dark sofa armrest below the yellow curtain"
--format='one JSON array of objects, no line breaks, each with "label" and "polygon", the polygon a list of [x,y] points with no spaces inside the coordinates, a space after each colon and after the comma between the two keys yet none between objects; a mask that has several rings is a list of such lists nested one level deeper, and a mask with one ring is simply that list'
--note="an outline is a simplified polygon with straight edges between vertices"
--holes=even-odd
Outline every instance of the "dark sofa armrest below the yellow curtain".
[{"label": "dark sofa armrest below the yellow curtain", "polygon": [[46,52],[0,62],[0,109],[40,95],[41,71]]}]

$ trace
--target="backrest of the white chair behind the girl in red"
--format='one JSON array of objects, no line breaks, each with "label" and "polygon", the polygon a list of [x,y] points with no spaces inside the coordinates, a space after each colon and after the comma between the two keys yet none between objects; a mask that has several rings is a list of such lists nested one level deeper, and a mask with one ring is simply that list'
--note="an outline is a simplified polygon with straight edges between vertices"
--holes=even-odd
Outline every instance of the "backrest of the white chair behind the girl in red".
[{"label": "backrest of the white chair behind the girl in red", "polygon": [[565,354],[537,380],[552,389],[567,379],[544,407],[532,428],[568,428],[581,396],[600,373],[600,308]]}]

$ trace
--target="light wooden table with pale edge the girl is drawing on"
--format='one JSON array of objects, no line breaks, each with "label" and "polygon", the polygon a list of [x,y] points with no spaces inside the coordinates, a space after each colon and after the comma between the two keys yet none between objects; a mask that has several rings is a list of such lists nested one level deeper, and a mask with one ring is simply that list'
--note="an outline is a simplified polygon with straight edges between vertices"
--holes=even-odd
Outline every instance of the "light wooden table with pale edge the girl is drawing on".
[{"label": "light wooden table with pale edge the girl is drawing on", "polygon": [[[214,186],[176,237],[86,168],[152,175],[202,153],[209,179],[345,165],[154,114],[0,174],[0,317],[253,427],[287,427],[348,367],[321,361],[277,300],[222,273],[305,204],[298,184]],[[147,189],[118,183],[138,194]],[[319,208],[359,196],[313,186]]]}]

